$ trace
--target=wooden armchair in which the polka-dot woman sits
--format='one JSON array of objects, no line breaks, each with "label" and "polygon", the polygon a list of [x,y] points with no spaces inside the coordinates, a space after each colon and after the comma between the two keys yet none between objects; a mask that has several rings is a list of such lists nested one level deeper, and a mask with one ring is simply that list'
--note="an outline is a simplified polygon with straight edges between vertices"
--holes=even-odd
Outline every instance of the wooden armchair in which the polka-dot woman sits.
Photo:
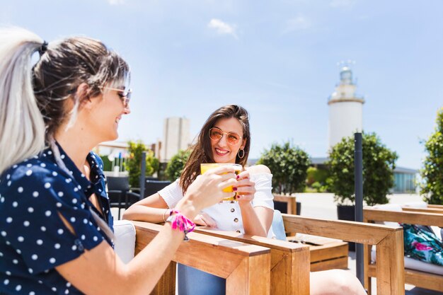
[{"label": "wooden armchair in which the polka-dot woman sits", "polygon": [[[135,254],[162,229],[159,224],[134,221]],[[176,294],[176,262],[226,279],[226,294],[270,295],[270,249],[237,241],[188,233],[151,294]],[[156,253],[153,253],[156,255]],[[196,282],[197,284],[198,282]]]}]

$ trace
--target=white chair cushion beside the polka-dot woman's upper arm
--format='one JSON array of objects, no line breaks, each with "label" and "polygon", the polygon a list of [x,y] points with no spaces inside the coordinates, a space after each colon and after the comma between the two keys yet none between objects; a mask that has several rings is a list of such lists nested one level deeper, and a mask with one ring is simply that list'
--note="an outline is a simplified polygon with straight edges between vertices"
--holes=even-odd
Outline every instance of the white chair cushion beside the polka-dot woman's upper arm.
[{"label": "white chair cushion beside the polka-dot woman's upper arm", "polygon": [[120,259],[127,263],[134,258],[135,226],[129,220],[114,221],[114,250]]}]

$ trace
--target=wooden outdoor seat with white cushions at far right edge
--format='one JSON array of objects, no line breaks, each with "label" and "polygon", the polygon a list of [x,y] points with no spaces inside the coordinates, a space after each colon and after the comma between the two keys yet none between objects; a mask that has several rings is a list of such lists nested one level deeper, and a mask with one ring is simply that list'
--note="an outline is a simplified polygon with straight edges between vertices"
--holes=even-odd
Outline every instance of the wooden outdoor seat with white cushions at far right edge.
[{"label": "wooden outdoor seat with white cushions at far right edge", "polygon": [[[442,228],[443,214],[441,212],[425,212],[426,210],[432,211],[432,209],[438,209],[438,207],[418,208],[417,206],[411,204],[408,206],[402,206],[401,204],[386,204],[376,207],[365,207],[363,209],[363,219],[366,222],[393,225],[399,223],[420,224],[422,226],[438,226]],[[436,236],[438,236],[439,231],[437,230],[435,233]],[[378,251],[379,249],[376,248],[376,250]],[[369,294],[371,294],[372,277],[376,277],[377,282],[379,281],[379,276],[374,272],[374,270],[381,260],[379,260],[379,258],[374,259],[373,254],[374,250],[372,250],[371,247],[364,247],[364,282]],[[403,259],[405,265],[405,283],[434,291],[443,291],[442,266],[433,265],[408,257],[404,257]]]}]

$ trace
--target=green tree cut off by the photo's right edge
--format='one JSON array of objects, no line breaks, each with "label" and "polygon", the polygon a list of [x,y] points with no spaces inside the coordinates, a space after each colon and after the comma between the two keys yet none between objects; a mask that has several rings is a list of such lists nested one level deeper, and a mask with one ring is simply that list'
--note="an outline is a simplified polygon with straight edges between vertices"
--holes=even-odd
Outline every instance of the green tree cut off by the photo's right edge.
[{"label": "green tree cut off by the photo's right edge", "polygon": [[436,122],[435,132],[425,141],[427,156],[420,170],[420,192],[429,204],[443,204],[443,108]]}]

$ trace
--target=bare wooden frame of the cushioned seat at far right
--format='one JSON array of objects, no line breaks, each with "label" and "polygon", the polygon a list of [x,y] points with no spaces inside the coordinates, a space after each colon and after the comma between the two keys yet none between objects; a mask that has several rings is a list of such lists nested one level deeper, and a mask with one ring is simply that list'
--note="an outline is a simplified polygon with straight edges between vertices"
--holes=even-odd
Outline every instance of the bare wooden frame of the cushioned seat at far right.
[{"label": "bare wooden frame of the cushioned seat at far right", "polygon": [[[430,207],[429,209],[432,210],[432,207]],[[421,224],[424,226],[443,227],[443,214],[434,212],[423,212],[423,209],[420,209],[416,212],[410,210],[411,209],[403,208],[403,212],[395,212],[366,207],[363,209],[363,219],[365,222],[391,221],[405,224]],[[399,241],[399,243],[400,242],[403,245],[403,239]],[[376,248],[376,251],[379,251],[378,247]],[[365,287],[369,290],[369,294],[371,294],[370,291],[372,277],[376,277],[377,282],[380,279],[375,270],[378,270],[378,264],[380,261],[382,261],[377,257],[376,263],[372,263],[370,256],[371,248],[364,247],[364,283]],[[405,269],[404,276],[405,283],[407,284],[413,284],[417,287],[431,289],[435,291],[443,291],[443,276],[441,275],[431,274],[429,272],[422,272],[418,270]],[[379,294],[378,291],[377,294]]]}]

